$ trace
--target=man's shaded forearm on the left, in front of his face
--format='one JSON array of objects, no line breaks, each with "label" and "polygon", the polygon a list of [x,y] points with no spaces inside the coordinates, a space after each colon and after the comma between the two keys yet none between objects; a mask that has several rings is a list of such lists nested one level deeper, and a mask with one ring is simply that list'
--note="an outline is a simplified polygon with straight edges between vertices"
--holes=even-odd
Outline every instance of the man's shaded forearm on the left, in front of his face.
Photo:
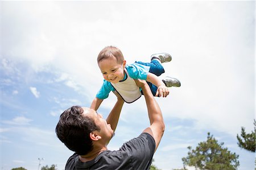
[{"label": "man's shaded forearm on the left, in front of his face", "polygon": [[113,109],[110,111],[108,118],[106,121],[111,125],[111,128],[115,131],[117,128],[117,123],[119,120],[119,116],[123,107],[123,99],[119,96],[118,93],[114,92],[115,96],[117,96],[117,102],[115,103]]}]

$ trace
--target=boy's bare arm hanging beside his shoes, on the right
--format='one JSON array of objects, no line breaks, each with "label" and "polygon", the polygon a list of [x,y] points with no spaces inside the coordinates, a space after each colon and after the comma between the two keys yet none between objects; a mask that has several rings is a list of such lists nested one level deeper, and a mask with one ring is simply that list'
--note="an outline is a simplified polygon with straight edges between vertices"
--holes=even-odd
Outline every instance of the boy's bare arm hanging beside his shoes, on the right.
[{"label": "boy's bare arm hanging beside his shoes, on the right", "polygon": [[158,89],[156,90],[155,96],[167,97],[168,94],[170,93],[167,86],[163,83],[163,81],[159,80],[158,76],[156,76],[155,74],[148,73],[147,74],[147,81],[151,82],[152,84],[154,84],[155,86],[158,87]]}]

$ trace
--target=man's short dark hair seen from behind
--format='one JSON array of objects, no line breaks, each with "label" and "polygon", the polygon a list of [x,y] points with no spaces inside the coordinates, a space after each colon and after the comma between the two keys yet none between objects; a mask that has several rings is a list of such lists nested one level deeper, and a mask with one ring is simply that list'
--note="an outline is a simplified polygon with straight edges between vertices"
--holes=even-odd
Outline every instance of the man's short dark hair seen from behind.
[{"label": "man's short dark hair seen from behind", "polygon": [[92,118],[82,115],[80,106],[72,106],[60,115],[56,126],[57,137],[78,155],[86,155],[93,150],[90,132],[100,130]]}]

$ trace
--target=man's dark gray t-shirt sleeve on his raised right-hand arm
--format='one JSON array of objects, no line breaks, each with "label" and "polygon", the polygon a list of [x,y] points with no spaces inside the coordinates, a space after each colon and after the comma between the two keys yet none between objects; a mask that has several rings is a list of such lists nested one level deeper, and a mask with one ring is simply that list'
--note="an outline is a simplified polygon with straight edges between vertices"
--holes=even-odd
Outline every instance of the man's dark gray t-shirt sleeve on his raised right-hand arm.
[{"label": "man's dark gray t-shirt sleeve on his raised right-hand arm", "polygon": [[128,152],[133,168],[150,169],[155,152],[155,140],[150,134],[142,133],[138,138],[131,139],[123,144],[120,150]]}]

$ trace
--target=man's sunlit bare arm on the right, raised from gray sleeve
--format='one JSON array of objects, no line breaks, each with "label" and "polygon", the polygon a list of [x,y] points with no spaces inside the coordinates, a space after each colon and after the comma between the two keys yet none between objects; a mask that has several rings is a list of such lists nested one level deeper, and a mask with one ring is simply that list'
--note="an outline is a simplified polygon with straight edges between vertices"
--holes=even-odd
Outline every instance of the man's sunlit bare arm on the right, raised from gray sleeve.
[{"label": "man's sunlit bare arm on the right, raised from gray sleeve", "polygon": [[164,121],[162,111],[154,96],[151,93],[149,86],[146,81],[135,80],[136,84],[142,88],[144,97],[146,99],[148,117],[150,119],[150,127],[146,128],[143,132],[147,132],[155,139],[155,151],[158,148],[160,140],[164,133]]}]

